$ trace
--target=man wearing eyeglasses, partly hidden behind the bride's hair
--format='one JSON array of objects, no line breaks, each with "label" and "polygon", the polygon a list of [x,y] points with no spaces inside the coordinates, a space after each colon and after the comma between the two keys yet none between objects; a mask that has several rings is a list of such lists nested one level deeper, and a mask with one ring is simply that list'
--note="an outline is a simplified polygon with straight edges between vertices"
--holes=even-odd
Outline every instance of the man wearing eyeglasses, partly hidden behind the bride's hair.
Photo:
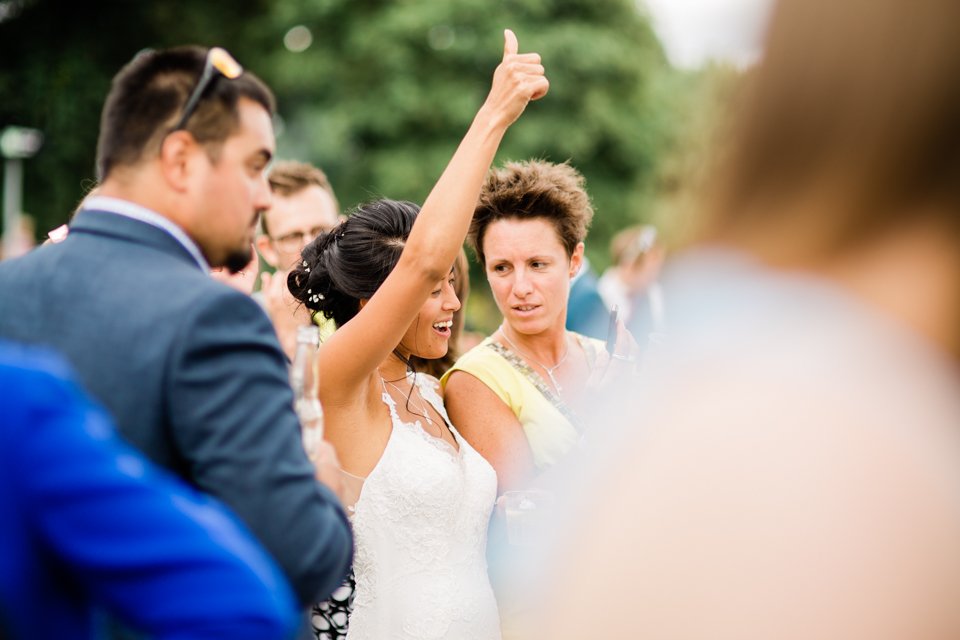
[{"label": "man wearing eyeglasses, partly hidden behind the bride's hair", "polygon": [[[310,314],[287,290],[287,273],[314,238],[340,222],[339,205],[326,174],[305,162],[277,162],[270,170],[273,204],[260,217],[257,250],[276,271],[264,272],[255,299],[273,322],[280,346],[290,360],[296,350],[297,327],[309,324]],[[333,331],[333,321],[319,318],[321,333]]]}]

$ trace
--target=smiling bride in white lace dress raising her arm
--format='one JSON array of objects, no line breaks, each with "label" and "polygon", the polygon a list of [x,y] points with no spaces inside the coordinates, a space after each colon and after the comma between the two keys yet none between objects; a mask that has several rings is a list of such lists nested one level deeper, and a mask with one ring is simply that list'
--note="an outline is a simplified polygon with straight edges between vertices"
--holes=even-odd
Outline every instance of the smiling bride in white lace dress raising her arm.
[{"label": "smiling bride in white lace dress raising her arm", "polygon": [[[447,350],[453,263],[507,128],[549,83],[505,31],[483,106],[423,209],[379,200],[308,245],[288,286],[339,327],[318,352],[326,437],[348,480],[356,592],[347,637],[499,638],[485,560],[490,465],[410,356]],[[350,482],[348,482],[350,484]]]}]

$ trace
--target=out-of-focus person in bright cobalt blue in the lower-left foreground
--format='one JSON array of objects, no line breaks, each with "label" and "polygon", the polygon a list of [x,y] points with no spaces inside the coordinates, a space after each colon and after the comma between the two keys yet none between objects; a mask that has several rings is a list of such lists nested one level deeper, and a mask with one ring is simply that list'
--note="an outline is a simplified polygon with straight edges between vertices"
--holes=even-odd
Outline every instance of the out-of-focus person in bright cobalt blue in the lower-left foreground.
[{"label": "out-of-focus person in bright cobalt blue in the lower-left foreground", "polygon": [[0,342],[0,637],[292,637],[294,595],[212,499],[121,442],[50,352]]}]

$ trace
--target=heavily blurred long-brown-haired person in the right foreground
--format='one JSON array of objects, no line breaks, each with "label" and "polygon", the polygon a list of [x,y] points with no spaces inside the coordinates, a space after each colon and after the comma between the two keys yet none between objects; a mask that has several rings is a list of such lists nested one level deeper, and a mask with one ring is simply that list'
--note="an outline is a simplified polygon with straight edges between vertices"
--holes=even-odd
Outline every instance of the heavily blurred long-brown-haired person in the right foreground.
[{"label": "heavily blurred long-brown-haired person in the right foreground", "polygon": [[541,637],[960,637],[958,77],[955,0],[779,3]]}]

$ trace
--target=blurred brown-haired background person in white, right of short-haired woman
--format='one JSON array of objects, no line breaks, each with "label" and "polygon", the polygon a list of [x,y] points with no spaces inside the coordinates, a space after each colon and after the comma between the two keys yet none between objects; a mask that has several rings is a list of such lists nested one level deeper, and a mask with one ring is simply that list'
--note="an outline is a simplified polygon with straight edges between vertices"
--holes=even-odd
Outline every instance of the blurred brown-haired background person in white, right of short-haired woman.
[{"label": "blurred brown-haired background person in white, right of short-haired woman", "polygon": [[664,330],[663,289],[657,277],[665,256],[656,227],[627,227],[610,241],[613,264],[597,283],[606,308],[617,308],[630,333],[641,342]]}]

